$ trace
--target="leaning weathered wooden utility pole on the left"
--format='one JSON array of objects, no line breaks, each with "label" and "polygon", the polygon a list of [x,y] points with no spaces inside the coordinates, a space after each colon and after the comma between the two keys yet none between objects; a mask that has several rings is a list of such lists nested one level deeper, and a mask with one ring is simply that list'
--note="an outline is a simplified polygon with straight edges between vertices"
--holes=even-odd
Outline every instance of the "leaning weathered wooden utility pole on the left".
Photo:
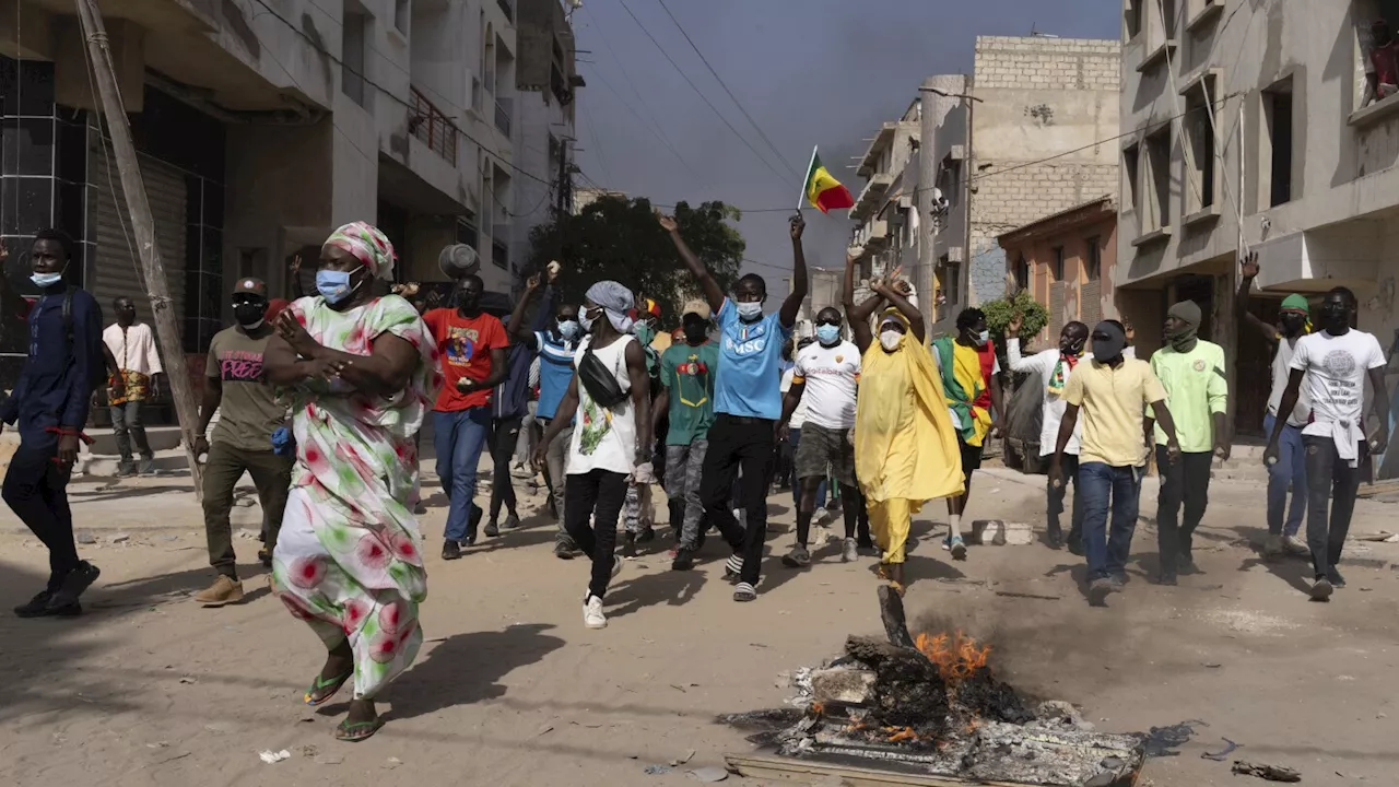
[{"label": "leaning weathered wooden utility pole on the left", "polygon": [[92,73],[97,77],[102,115],[106,118],[106,127],[112,134],[116,168],[122,175],[122,192],[126,196],[126,207],[132,213],[132,230],[136,234],[136,245],[141,256],[145,293],[151,298],[151,311],[155,314],[155,336],[159,340],[168,370],[190,476],[194,479],[194,497],[203,501],[203,473],[194,457],[194,427],[199,423],[199,408],[196,408],[194,394],[189,388],[189,371],[185,365],[185,349],[179,340],[179,323],[171,311],[173,301],[165,279],[165,266],[161,263],[161,251],[155,244],[155,223],[151,218],[151,203],[145,197],[145,183],[141,181],[136,146],[132,144],[132,126],[126,118],[122,94],[116,87],[106,27],[102,24],[102,13],[97,7],[97,0],[77,0],[77,7],[83,39],[87,43]]}]

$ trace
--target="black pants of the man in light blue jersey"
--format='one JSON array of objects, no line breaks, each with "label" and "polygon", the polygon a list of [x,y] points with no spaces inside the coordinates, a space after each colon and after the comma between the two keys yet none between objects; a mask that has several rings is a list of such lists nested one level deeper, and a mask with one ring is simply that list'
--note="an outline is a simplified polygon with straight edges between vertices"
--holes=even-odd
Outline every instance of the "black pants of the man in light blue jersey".
[{"label": "black pants of the man in light blue jersey", "polygon": [[[762,542],[768,535],[768,483],[772,480],[774,422],[720,413],[709,427],[709,452],[704,458],[700,500],[705,515],[719,528],[723,541],[743,557],[741,581],[757,584],[762,564]],[[747,528],[729,508],[733,478],[743,469],[740,503],[747,511]]]}]

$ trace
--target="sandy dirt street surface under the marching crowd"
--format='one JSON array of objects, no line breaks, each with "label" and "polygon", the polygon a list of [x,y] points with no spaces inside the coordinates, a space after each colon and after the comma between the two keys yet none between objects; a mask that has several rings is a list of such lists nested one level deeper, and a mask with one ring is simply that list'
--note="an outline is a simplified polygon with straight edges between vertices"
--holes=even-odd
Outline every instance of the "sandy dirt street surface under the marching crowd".
[{"label": "sandy dirt street surface under the marching crowd", "polygon": [[[970,514],[1042,529],[1042,482],[983,471]],[[323,651],[269,597],[253,567],[255,541],[236,542],[246,604],[201,609],[187,599],[211,573],[199,508],[180,483],[76,487],[80,527],[97,539],[80,549],[102,578],[81,619],[0,616],[10,675],[0,699],[0,783],[691,783],[684,770],[753,749],[715,714],[778,706],[789,693],[781,672],[834,655],[846,634],[880,632],[872,559],[841,564],[827,549],[807,571],[781,567],[789,496],[771,500],[755,604],[730,599],[716,543],[686,574],[649,555],[627,562],[603,632],[582,626],[586,563],[550,555],[547,515],[532,514],[522,531],[443,564],[435,548],[445,511],[435,504],[424,517],[428,641],[381,706],[383,731],[340,744],[330,732],[344,702],[301,706]],[[1329,605],[1311,604],[1301,592],[1304,563],[1265,564],[1248,546],[1263,527],[1262,489],[1217,482],[1212,497],[1198,556],[1205,574],[1182,577],[1178,588],[1149,584],[1156,534],[1144,520],[1133,581],[1108,609],[1087,606],[1081,562],[1067,552],[972,548],[967,563],[951,564],[928,538],[926,520],[944,521],[935,504],[911,556],[909,615],[986,636],[1002,676],[1080,704],[1102,730],[1203,723],[1174,756],[1150,760],[1143,784],[1252,783],[1231,776],[1228,763],[1202,759],[1224,738],[1242,746],[1238,759],[1295,767],[1304,784],[1393,784],[1399,571],[1389,566],[1399,545],[1367,545],[1364,557],[1381,567],[1346,569],[1350,587]],[[1154,500],[1149,486],[1143,514],[1154,514]],[[529,496],[523,510],[541,503]],[[1353,532],[1395,529],[1393,513],[1393,504],[1361,503]],[[255,528],[259,518],[255,507],[236,510],[241,525]],[[45,553],[7,510],[0,531],[0,598],[10,606],[42,585]],[[291,758],[264,765],[263,749]],[[687,766],[644,773],[690,751]]]}]

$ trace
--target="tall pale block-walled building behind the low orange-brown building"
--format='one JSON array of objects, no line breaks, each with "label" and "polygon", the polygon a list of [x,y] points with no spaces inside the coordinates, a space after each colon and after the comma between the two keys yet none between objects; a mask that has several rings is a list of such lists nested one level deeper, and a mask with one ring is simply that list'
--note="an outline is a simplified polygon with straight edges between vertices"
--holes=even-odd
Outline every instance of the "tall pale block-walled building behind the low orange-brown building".
[{"label": "tall pale block-walled building behind the low orange-brown building", "polygon": [[978,36],[971,77],[923,80],[915,245],[935,333],[1004,297],[997,237],[1116,190],[1115,150],[1094,143],[1118,133],[1118,70],[1114,41]]}]

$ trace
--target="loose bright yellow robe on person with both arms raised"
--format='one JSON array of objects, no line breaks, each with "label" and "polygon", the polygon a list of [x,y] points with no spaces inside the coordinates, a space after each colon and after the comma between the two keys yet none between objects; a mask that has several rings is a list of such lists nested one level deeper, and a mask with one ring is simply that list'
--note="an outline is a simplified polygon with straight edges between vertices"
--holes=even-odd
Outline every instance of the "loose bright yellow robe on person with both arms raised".
[{"label": "loose bright yellow robe on person with both arms raised", "polygon": [[860,363],[855,472],[865,497],[881,503],[961,494],[957,430],[932,356],[904,335],[893,353],[872,344]]}]

